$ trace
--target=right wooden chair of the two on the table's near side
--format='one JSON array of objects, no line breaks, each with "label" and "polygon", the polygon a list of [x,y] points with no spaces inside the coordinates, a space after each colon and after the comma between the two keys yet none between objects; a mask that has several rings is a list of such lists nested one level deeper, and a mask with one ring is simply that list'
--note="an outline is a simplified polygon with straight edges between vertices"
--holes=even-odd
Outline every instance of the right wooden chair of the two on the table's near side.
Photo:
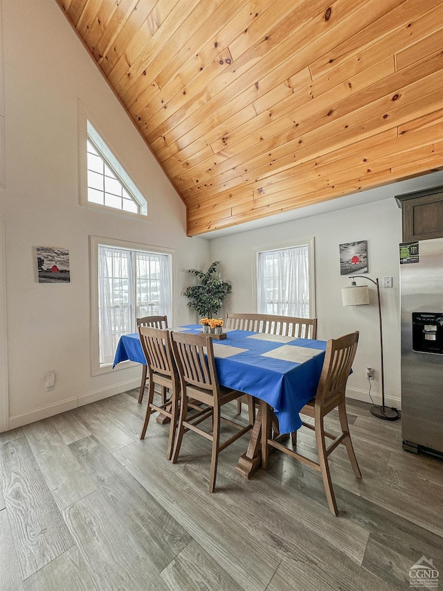
[{"label": "right wooden chair of the two on the table's near side", "polygon": [[[183,434],[189,430],[198,433],[212,442],[210,461],[209,491],[215,490],[217,477],[217,463],[219,452],[227,448],[230,443],[252,429],[252,424],[239,425],[220,414],[221,407],[231,400],[242,396],[242,392],[219,385],[217,369],[215,367],[213,341],[209,336],[192,335],[186,333],[172,333],[172,349],[174,359],[179,370],[181,383],[181,407],[177,438],[172,454],[172,462],[179,457]],[[206,408],[188,413],[190,399],[195,400]],[[212,434],[201,430],[197,425],[206,418],[213,418]],[[224,443],[220,443],[220,423],[224,421],[235,427],[238,432]]]}]

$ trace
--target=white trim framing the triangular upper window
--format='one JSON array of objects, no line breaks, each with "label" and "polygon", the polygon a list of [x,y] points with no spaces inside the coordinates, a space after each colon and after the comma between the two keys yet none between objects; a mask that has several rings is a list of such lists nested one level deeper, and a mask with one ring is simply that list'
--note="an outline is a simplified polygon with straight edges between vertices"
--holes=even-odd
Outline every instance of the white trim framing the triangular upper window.
[{"label": "white trim framing the triangular upper window", "polygon": [[[141,199],[138,200],[136,195],[133,195],[136,202],[140,201],[142,213],[135,213],[134,211],[125,211],[123,209],[117,209],[117,208],[110,207],[107,205],[100,205],[99,203],[93,203],[93,202],[88,201],[88,175],[87,175],[87,166],[88,166],[88,164],[87,164],[87,140],[89,137],[88,124],[91,125],[93,130],[100,137],[102,143],[106,146],[107,150],[116,159],[116,162],[118,163],[120,168],[124,171],[125,175],[129,179],[130,184],[132,184],[134,186],[134,188],[136,189],[136,191],[141,195],[141,199],[143,199],[145,201],[145,204],[143,204],[141,202]],[[107,150],[102,150],[100,146],[97,146],[96,141],[94,141],[93,139],[91,139],[91,143],[98,150],[98,152],[106,152],[107,151]],[[104,153],[102,156],[105,157],[104,158],[105,162],[107,162],[107,155]],[[108,164],[108,162],[107,162],[107,164]],[[123,184],[123,186],[125,188],[127,188],[127,190],[129,190],[128,192],[132,195],[131,188],[127,187],[127,182],[123,178],[123,176],[125,176],[125,175],[119,173],[118,170],[115,170],[115,168],[116,168],[115,166],[111,166],[111,164],[108,164],[108,166],[109,166],[109,168],[111,168],[111,170],[113,170],[113,172],[118,177],[119,181]],[[80,201],[81,206],[89,207],[90,209],[95,209],[96,211],[105,211],[107,213],[111,213],[114,215],[124,215],[125,217],[129,217],[132,219],[138,218],[139,220],[144,220],[144,221],[150,220],[149,204],[147,202],[147,199],[145,198],[143,193],[140,191],[140,189],[136,186],[136,184],[132,180],[132,175],[130,175],[127,172],[128,167],[126,166],[124,159],[122,159],[117,153],[115,153],[114,151],[112,151],[109,148],[109,142],[105,138],[104,134],[102,134],[100,127],[98,127],[96,125],[96,123],[91,120],[91,117],[89,116],[89,114],[87,114],[87,112],[84,110],[84,107],[82,105],[80,98],[78,99],[78,167],[79,167],[79,170],[78,170],[79,201]]]}]

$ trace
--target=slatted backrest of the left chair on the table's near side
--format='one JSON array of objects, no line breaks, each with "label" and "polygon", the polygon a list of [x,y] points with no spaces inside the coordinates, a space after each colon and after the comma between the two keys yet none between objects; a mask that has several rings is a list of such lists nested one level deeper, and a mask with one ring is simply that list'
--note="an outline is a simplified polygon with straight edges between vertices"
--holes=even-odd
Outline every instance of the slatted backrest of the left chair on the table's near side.
[{"label": "slatted backrest of the left chair on the table's near side", "polygon": [[172,377],[174,360],[170,331],[165,328],[139,326],[138,334],[150,371]]}]

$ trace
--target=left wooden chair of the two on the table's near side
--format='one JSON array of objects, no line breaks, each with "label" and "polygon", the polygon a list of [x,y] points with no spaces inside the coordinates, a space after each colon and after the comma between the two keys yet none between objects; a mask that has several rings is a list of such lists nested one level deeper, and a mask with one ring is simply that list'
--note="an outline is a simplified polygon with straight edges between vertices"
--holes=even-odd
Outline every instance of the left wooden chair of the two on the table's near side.
[{"label": "left wooden chair of the two on the table's near side", "polygon": [[[151,328],[150,326],[139,326],[138,334],[140,342],[147,361],[148,389],[147,389],[147,407],[145,422],[140,434],[140,439],[145,439],[147,425],[150,422],[150,416],[154,412],[160,412],[170,418],[170,433],[168,440],[167,457],[172,457],[172,446],[174,445],[175,431],[177,427],[177,408],[179,403],[179,373],[174,362],[172,353],[171,333],[163,328]],[[154,387],[161,386],[164,391],[170,391],[170,397],[163,399],[161,405],[153,402]]]}]

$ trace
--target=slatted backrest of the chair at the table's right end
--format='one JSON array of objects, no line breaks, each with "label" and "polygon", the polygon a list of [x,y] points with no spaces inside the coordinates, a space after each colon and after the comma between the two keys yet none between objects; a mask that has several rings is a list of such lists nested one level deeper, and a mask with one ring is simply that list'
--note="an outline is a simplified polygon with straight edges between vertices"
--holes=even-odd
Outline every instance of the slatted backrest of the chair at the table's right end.
[{"label": "slatted backrest of the chair at the table's right end", "polygon": [[326,405],[345,396],[358,342],[358,330],[338,339],[329,339],[318,382],[316,405]]}]

